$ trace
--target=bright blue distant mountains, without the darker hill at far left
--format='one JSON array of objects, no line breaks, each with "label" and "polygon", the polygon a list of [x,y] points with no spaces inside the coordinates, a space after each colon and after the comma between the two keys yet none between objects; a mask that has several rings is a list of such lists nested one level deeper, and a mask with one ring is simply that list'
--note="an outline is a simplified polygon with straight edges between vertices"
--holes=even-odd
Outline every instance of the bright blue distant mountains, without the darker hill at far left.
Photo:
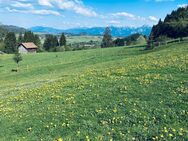
[{"label": "bright blue distant mountains, without the darker hill at far left", "polygon": [[[151,32],[151,27],[141,26],[137,28],[132,27],[110,27],[112,36],[128,36],[134,33],[140,33],[144,35],[149,35]],[[105,27],[92,27],[92,28],[73,28],[73,29],[55,29],[50,27],[32,27],[29,30],[36,33],[51,33],[51,34],[60,34],[65,32],[67,34],[73,35],[90,35],[90,36],[101,36],[104,33]]]}]

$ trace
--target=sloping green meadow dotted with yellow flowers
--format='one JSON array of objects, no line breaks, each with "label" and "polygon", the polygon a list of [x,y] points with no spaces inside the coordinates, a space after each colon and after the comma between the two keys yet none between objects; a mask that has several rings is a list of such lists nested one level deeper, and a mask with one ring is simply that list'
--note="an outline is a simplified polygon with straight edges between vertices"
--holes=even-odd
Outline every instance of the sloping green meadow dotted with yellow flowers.
[{"label": "sloping green meadow dotted with yellow flowers", "polygon": [[0,140],[188,140],[188,44],[0,56]]}]

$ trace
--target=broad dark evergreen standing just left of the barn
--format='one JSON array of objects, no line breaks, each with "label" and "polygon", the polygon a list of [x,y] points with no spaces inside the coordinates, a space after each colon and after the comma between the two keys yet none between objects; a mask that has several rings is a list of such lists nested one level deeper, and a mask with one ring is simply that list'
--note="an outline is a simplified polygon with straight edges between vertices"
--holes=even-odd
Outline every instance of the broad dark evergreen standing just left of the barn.
[{"label": "broad dark evergreen standing just left of the barn", "polygon": [[6,53],[15,53],[17,51],[16,35],[14,32],[9,32],[6,35],[4,43],[5,43],[5,52]]}]

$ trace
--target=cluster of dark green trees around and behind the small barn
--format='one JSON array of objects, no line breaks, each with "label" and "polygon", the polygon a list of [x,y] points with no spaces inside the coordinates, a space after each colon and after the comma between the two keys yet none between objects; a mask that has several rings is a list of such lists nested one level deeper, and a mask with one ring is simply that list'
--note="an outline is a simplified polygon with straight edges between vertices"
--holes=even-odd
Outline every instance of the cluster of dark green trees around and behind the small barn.
[{"label": "cluster of dark green trees around and behind the small barn", "polygon": [[17,52],[18,45],[24,42],[33,42],[35,45],[37,45],[38,52],[58,52],[70,50],[70,48],[66,46],[66,37],[63,33],[60,38],[55,35],[46,35],[43,44],[41,43],[39,35],[34,34],[31,31],[20,33],[18,36],[16,36],[14,32],[3,31],[0,33],[0,35],[2,35],[0,38],[0,50],[8,54]]}]

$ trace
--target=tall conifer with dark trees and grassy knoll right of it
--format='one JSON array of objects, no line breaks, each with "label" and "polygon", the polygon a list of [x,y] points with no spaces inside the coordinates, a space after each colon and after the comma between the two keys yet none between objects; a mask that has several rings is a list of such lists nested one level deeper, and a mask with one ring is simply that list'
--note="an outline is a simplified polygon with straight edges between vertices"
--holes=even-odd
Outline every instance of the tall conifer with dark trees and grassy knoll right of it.
[{"label": "tall conifer with dark trees and grassy knoll right of it", "polygon": [[118,47],[118,46],[130,46],[137,44],[146,44],[147,37],[139,33],[132,34],[128,37],[113,39],[111,36],[110,28],[105,29],[101,47]]}]

